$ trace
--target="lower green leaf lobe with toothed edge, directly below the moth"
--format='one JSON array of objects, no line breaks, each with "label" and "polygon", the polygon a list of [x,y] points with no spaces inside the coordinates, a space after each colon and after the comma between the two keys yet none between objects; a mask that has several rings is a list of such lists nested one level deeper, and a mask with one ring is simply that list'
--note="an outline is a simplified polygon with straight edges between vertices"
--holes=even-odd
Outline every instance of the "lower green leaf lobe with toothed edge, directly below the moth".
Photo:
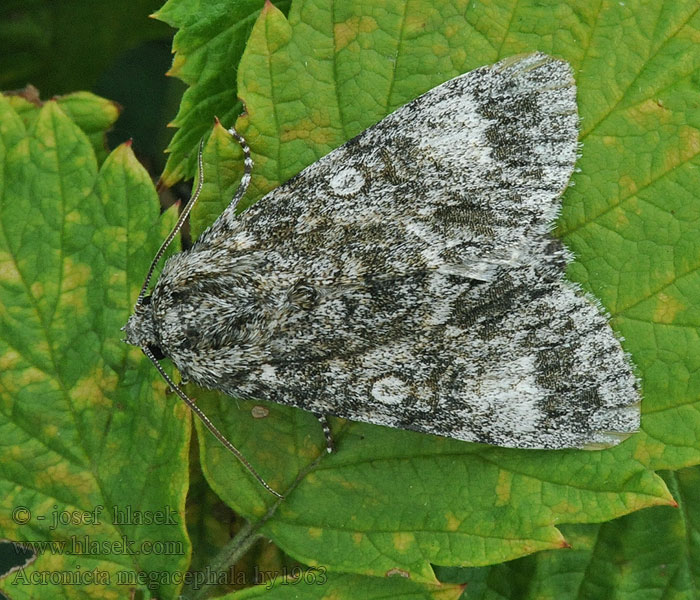
[{"label": "lower green leaf lobe with toothed edge, directly below the moth", "polygon": [[338,451],[326,457],[308,413],[265,404],[269,416],[256,419],[255,403],[206,392],[197,400],[286,498],[266,514],[274,499],[200,437],[212,487],[262,520],[287,553],[329,569],[376,576],[400,569],[434,582],[428,563],[483,565],[562,548],[555,523],[671,502],[663,483],[622,453],[512,451],[353,423],[336,429]]}]

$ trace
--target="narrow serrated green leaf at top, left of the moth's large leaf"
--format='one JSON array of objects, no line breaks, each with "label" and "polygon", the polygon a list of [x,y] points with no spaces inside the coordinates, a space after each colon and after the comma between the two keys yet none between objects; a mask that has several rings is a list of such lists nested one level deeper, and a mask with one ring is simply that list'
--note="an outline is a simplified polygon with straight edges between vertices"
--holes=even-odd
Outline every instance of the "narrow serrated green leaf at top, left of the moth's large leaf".
[{"label": "narrow serrated green leaf at top, left of the moth's large leaf", "polygon": [[[178,131],[168,147],[162,180],[173,185],[195,171],[195,149],[215,117],[233,123],[242,105],[236,96],[236,68],[264,0],[215,0],[201,4],[168,0],[153,16],[179,28],[169,75],[190,87],[171,125]],[[287,10],[289,0],[277,2]]]}]

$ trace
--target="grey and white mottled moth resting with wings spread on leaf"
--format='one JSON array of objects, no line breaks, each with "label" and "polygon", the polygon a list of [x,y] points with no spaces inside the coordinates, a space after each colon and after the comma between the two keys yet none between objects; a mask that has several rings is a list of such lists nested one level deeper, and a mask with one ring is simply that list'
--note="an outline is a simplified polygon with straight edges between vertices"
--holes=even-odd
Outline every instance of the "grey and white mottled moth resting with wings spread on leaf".
[{"label": "grey and white mottled moth resting with wings spread on leaf", "polygon": [[466,73],[240,216],[237,194],[127,341],[236,397],[499,446],[615,444],[639,427],[638,382],[550,233],[577,150],[566,62]]}]

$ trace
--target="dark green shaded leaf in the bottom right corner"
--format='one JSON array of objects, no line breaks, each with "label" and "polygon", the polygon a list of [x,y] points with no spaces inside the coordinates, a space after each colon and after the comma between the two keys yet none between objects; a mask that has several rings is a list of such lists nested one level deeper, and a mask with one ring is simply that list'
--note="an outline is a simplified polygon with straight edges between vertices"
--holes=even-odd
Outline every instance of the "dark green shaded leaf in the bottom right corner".
[{"label": "dark green shaded leaf in the bottom right corner", "polygon": [[679,507],[653,508],[599,525],[567,526],[573,548],[566,552],[440,574],[466,583],[471,600],[694,598],[700,583],[695,569],[700,560],[700,470],[663,475]]}]

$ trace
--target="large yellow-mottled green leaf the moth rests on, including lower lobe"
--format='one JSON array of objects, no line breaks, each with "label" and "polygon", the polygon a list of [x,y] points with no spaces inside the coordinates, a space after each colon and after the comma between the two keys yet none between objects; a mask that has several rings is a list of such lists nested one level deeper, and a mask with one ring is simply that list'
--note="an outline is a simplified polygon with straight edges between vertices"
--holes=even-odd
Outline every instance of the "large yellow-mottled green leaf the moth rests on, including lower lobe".
[{"label": "large yellow-mottled green leaf the moth rests on, including lower lobe", "polygon": [[[700,348],[689,302],[698,297],[700,249],[691,183],[698,159],[688,141],[698,117],[690,101],[700,65],[695,4],[374,6],[307,0],[293,3],[287,20],[266,4],[238,70],[247,113],[237,129],[256,162],[247,200],[450,77],[519,52],[566,58],[576,72],[584,145],[558,233],[576,254],[572,279],[611,311],[638,366],[642,431],[606,451],[533,452],[336,420],[338,452],[326,457],[311,415],[265,405],[269,416],[255,419],[251,409],[260,403],[192,391],[286,499],[267,513],[274,499],[202,436],[212,487],[307,564],[378,576],[398,568],[425,582],[434,581],[430,563],[502,562],[566,545],[555,525],[672,503],[651,469],[700,462],[693,375]],[[644,27],[629,31],[630,15]],[[602,98],[600,81],[614,81],[615,93]],[[659,98],[664,111],[650,114]],[[640,111],[644,119],[631,119]],[[671,170],[666,157],[675,160]],[[625,182],[637,182],[634,192]],[[233,184],[216,183],[210,198],[217,186],[220,211]],[[215,213],[209,202],[206,218]],[[668,312],[638,314],[679,278],[685,312],[671,322]]]}]

